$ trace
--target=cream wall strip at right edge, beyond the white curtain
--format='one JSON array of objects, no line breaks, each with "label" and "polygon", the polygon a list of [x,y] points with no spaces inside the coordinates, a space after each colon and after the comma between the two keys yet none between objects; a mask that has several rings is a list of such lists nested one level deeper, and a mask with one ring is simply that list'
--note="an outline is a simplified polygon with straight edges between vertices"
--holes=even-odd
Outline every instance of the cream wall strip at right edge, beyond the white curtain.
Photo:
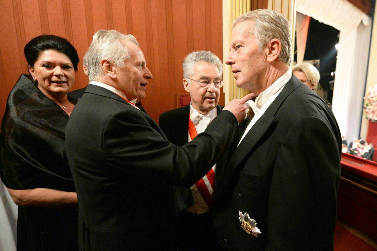
[{"label": "cream wall strip at right edge, beyond the white curtain", "polygon": [[[374,20],[377,18],[377,11],[374,12]],[[366,77],[365,92],[375,85],[377,85],[377,25],[373,25],[371,48],[369,50],[369,62],[368,62],[368,74]],[[365,96],[365,94],[364,94]],[[360,137],[366,139],[366,133],[368,132],[368,119],[365,118],[365,113],[362,115]]]}]

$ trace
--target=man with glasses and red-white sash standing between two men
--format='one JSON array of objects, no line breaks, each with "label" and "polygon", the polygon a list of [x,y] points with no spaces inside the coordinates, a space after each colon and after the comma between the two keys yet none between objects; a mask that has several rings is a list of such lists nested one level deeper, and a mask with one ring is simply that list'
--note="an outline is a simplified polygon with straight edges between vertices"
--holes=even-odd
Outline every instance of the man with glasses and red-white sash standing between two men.
[{"label": "man with glasses and red-white sash standing between two men", "polygon": [[[167,139],[184,145],[204,132],[221,112],[218,105],[222,87],[222,62],[210,51],[193,51],[183,62],[183,85],[190,93],[189,105],[162,113],[159,126]],[[249,119],[240,124],[240,132]],[[215,192],[216,165],[190,188],[176,187],[179,212],[178,250],[218,250],[213,224],[209,215]]]}]

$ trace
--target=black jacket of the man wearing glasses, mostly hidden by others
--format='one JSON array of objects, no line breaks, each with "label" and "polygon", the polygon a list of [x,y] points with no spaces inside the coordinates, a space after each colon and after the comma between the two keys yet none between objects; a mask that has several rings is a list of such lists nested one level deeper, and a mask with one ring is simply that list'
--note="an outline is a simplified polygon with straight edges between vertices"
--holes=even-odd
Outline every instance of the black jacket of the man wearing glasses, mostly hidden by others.
[{"label": "black jacket of the man wearing glasses, mostly hidden by others", "polygon": [[[217,114],[222,111],[222,106],[217,105]],[[159,118],[159,126],[165,133],[166,138],[177,146],[182,146],[188,142],[188,131],[189,131],[189,114],[190,114],[190,104],[187,106],[173,109],[164,113],[161,113]],[[244,121],[239,124],[240,134],[244,131],[245,127],[248,125],[250,119],[247,117]],[[224,154],[221,159],[227,159],[227,154]],[[221,160],[220,160],[221,161]],[[194,204],[192,198],[192,192],[190,187],[176,187],[176,197],[178,211],[186,209]]]}]

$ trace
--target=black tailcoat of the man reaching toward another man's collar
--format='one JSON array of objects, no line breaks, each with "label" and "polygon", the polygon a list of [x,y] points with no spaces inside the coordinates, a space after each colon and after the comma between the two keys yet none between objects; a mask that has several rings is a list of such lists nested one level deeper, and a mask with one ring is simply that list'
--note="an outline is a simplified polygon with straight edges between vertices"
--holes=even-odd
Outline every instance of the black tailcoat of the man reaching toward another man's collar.
[{"label": "black tailcoat of the man reaching toward another man's collar", "polygon": [[197,138],[177,147],[146,113],[89,85],[66,126],[80,250],[175,250],[174,186],[209,171],[239,139],[237,120],[222,112]]}]

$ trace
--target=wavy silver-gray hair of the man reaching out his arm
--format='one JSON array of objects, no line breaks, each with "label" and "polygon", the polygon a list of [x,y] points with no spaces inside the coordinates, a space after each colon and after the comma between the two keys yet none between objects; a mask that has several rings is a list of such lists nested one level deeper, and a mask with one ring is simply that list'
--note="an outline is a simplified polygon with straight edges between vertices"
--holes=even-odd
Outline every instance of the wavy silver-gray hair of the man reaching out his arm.
[{"label": "wavy silver-gray hair of the man reaching out his arm", "polygon": [[123,67],[124,61],[131,56],[129,48],[122,41],[130,41],[139,46],[138,41],[132,35],[125,35],[116,30],[98,30],[94,33],[92,44],[85,53],[89,81],[100,80],[104,75],[101,60],[106,59],[110,63]]}]

